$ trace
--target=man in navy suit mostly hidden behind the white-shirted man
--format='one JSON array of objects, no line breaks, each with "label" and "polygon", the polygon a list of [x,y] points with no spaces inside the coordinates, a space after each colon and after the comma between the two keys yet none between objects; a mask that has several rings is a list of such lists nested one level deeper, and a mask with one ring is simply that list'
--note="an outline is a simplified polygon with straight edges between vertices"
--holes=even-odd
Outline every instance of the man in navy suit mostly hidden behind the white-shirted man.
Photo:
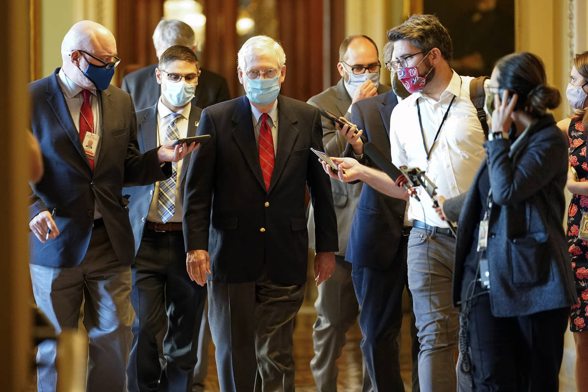
[{"label": "man in navy suit mostly hidden behind the white-shirted man", "polygon": [[[386,43],[385,63],[391,61],[392,51],[393,44]],[[361,139],[349,135],[344,156],[359,158],[364,165],[374,166],[369,157],[363,155],[363,143],[372,142],[390,159],[390,115],[396,103],[395,92],[389,91],[353,104],[351,122],[363,129],[363,135]],[[402,326],[402,293],[405,287],[408,290],[406,245],[410,227],[403,229],[405,209],[405,200],[386,196],[364,183],[345,256],[345,260],[353,264],[353,286],[362,308],[359,314],[363,334],[361,348],[375,391],[404,390],[397,337]],[[410,321],[410,334],[412,391],[415,392],[419,390],[419,340],[414,316]]]}]

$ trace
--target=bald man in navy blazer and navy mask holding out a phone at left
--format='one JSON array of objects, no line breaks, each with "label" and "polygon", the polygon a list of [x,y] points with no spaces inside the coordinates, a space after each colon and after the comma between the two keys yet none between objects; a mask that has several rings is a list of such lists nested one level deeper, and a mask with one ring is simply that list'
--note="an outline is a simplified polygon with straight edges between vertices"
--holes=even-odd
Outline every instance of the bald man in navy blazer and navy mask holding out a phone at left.
[{"label": "bald man in navy blazer and navy mask holding out a phone at left", "polygon": [[[29,85],[31,129],[45,166],[29,197],[33,291],[58,333],[77,328],[83,302],[90,342],[87,390],[120,391],[131,337],[134,259],[122,186],[169,177],[172,165],[165,161],[177,162],[195,146],[169,143],[139,152],[132,99],[109,85],[119,59],[104,26],[78,22],[61,50],[62,68]],[[88,140],[93,148],[86,147]],[[39,344],[39,390],[56,389],[55,357],[54,340]]]}]

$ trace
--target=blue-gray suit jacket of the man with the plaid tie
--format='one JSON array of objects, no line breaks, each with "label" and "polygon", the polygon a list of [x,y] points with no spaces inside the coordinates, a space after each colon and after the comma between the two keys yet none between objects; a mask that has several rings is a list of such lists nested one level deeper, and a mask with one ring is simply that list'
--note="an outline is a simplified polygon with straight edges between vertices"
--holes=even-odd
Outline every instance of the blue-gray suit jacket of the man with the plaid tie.
[{"label": "blue-gray suit jacket of the man with the plaid tie", "polygon": [[[141,152],[158,147],[157,145],[157,103],[151,108],[143,109],[137,112],[138,132],[137,139],[139,142],[139,149]],[[188,119],[188,137],[195,136],[198,129],[198,122],[202,109],[194,106],[190,109],[190,118]],[[186,155],[182,163],[182,172],[180,173],[180,200],[183,200],[183,190],[186,179],[186,172],[190,163],[192,153]],[[155,190],[155,183],[145,186],[133,186],[125,188],[124,193],[131,195],[129,197],[129,218],[131,219],[131,226],[133,227],[133,236],[135,237],[135,254],[139,250],[143,232],[145,230],[145,223],[147,222],[147,215],[149,214],[149,207],[153,199],[153,192]]]}]

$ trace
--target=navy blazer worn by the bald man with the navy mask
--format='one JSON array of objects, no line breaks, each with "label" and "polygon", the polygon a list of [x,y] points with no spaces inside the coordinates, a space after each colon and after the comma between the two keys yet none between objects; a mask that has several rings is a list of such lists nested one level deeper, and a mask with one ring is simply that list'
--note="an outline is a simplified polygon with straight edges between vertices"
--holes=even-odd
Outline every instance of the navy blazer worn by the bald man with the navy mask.
[{"label": "navy blazer worn by the bald man with the navy mask", "polygon": [[103,132],[92,171],[59,86],[58,72],[59,68],[29,84],[31,128],[45,165],[41,181],[32,186],[29,219],[56,207],[54,219],[60,232],[46,243],[29,235],[31,263],[52,267],[81,263],[97,202],[116,256],[122,264],[131,264],[133,237],[122,187],[166,179],[171,175],[171,164],[159,166],[157,149],[141,155],[131,96],[111,85],[100,93]]}]

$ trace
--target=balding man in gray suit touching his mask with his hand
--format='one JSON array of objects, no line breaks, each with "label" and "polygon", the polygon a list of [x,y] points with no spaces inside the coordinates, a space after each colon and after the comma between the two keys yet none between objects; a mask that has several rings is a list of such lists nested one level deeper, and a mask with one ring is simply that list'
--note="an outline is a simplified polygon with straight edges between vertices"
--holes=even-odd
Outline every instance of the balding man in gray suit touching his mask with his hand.
[{"label": "balding man in gray suit touching his mask with his hand", "polygon": [[[337,68],[341,75],[339,82],[310,98],[310,105],[350,119],[353,103],[390,90],[389,86],[379,83],[380,62],[377,46],[368,36],[351,35],[343,40],[339,47]],[[340,156],[345,150],[345,137],[336,132],[332,120],[323,116],[321,122],[325,152],[329,156]],[[362,185],[331,179],[331,188],[337,216],[339,252],[335,253],[335,272],[328,282],[319,286],[319,296],[315,302],[317,319],[312,333],[315,357],[310,361],[310,370],[315,377],[318,391],[337,389],[339,371],[335,361],[341,355],[341,349],[346,341],[345,333],[355,322],[359,310],[351,279],[351,264],[345,262],[345,249]],[[313,213],[314,210],[310,206],[309,233],[313,233],[315,229]],[[309,247],[315,248],[312,235]],[[369,377],[365,377],[363,391],[371,388]]]}]

